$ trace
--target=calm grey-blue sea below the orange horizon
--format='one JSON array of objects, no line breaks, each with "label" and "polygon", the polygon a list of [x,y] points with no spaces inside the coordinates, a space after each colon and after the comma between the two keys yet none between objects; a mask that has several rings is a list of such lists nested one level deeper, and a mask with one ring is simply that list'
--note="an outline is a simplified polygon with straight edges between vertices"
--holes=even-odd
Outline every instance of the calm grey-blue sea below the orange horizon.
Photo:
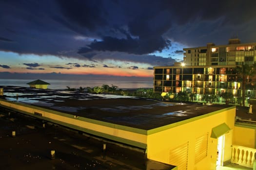
[{"label": "calm grey-blue sea below the orange horizon", "polygon": [[[14,85],[29,87],[27,83],[34,80],[30,79],[0,79],[0,85]],[[43,80],[51,85],[48,85],[49,89],[66,89],[81,87],[94,87],[101,85],[117,85],[118,88],[153,88],[153,82],[137,82],[137,81],[106,81],[106,80]]]}]

